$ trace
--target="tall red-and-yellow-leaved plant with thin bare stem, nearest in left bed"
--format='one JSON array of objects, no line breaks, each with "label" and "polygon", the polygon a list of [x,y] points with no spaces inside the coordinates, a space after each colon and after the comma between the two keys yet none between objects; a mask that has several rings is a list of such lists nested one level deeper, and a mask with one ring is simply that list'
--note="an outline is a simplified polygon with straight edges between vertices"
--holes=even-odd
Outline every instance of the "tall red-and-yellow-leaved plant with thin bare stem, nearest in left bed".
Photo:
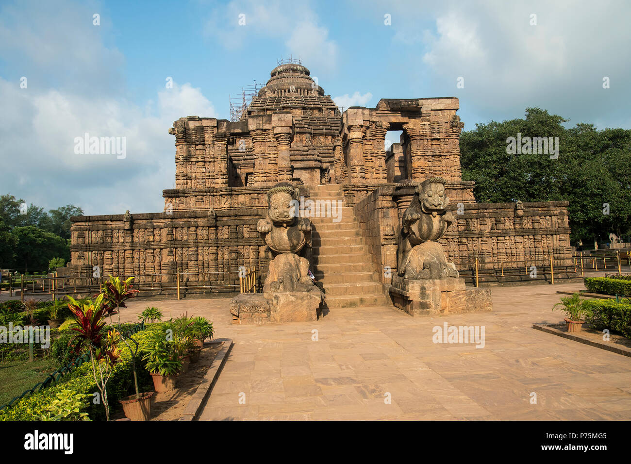
[{"label": "tall red-and-yellow-leaved plant with thin bare stem, nearest in left bed", "polygon": [[87,345],[92,363],[92,374],[103,398],[105,417],[109,420],[107,381],[112,376],[114,364],[119,360],[120,350],[117,347],[119,336],[110,330],[107,332],[107,336],[103,338],[103,328],[107,325],[106,321],[103,320],[103,316],[107,311],[107,307],[103,304],[102,294],[98,295],[93,302],[78,302],[70,296],[68,299],[68,308],[74,315],[74,324],[69,329],[76,332],[69,345],[74,343],[74,350],[77,354]]}]

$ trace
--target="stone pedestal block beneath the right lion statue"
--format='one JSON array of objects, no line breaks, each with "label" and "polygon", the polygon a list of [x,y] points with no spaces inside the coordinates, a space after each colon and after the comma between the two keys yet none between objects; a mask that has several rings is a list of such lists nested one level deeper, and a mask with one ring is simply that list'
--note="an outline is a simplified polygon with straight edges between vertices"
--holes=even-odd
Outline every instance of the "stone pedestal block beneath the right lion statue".
[{"label": "stone pedestal block beneath the right lion statue", "polygon": [[392,277],[394,306],[411,316],[492,311],[491,291],[466,288],[463,278],[411,280]]}]

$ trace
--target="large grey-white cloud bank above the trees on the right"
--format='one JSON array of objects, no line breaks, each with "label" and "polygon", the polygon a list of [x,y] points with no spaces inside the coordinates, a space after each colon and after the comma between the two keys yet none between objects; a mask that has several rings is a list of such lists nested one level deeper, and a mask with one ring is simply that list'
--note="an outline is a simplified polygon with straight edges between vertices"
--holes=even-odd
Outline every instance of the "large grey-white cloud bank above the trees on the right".
[{"label": "large grey-white cloud bank above the trees on the right", "polygon": [[[423,96],[459,97],[461,113],[485,121],[538,106],[570,124],[628,122],[631,56],[621,51],[631,48],[631,4],[403,1],[391,8],[392,45],[406,51],[401,75]],[[457,88],[461,76],[464,88]],[[603,76],[616,86],[604,90]]]}]

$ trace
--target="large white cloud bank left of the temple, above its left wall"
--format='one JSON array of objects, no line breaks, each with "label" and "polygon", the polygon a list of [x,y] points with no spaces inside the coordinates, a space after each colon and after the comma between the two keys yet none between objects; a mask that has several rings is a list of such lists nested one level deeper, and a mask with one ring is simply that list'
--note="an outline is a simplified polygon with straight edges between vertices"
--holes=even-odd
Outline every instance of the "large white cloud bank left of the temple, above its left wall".
[{"label": "large white cloud bank left of the temple, above its left wall", "polygon": [[[15,103],[0,119],[0,160],[12,167],[0,174],[3,193],[46,208],[73,203],[88,214],[162,211],[162,189],[175,177],[168,128],[178,117],[216,114],[189,83],[156,97],[152,116],[120,98],[38,93],[0,78],[0,101]],[[74,138],[85,133],[126,137],[127,157],[75,154]]]}]

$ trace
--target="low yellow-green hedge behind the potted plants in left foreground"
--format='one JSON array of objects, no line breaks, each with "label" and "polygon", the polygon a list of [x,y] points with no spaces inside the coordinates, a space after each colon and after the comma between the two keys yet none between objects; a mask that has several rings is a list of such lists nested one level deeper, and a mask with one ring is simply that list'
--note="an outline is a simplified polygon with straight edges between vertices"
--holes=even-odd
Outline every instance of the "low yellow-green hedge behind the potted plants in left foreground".
[{"label": "low yellow-green hedge behind the potted plants in left foreground", "polygon": [[[136,358],[136,370],[138,371],[138,385],[141,392],[153,390],[153,381],[151,381],[149,372],[144,368],[144,362],[140,360],[140,351],[148,345],[151,332],[155,328],[155,325],[149,325],[145,330],[133,335],[134,340],[140,345]],[[133,343],[131,345],[132,347],[134,346]],[[135,392],[131,354],[124,344],[121,345],[120,359],[120,362],[115,364],[114,372],[107,383],[107,398],[110,412],[119,407],[118,400],[120,398]],[[28,395],[12,407],[4,408],[0,411],[0,420],[39,420],[39,417],[45,413],[45,408],[55,400],[57,393],[62,390],[85,393],[90,395],[90,398],[93,398],[93,393],[97,393],[98,388],[92,374],[91,362],[85,362],[80,367],[77,367],[66,379],[62,378],[61,381],[53,386]],[[105,420],[105,408],[102,401],[100,404],[93,404],[90,400],[90,403],[86,405],[85,412],[88,413],[88,417],[91,420]]]}]

